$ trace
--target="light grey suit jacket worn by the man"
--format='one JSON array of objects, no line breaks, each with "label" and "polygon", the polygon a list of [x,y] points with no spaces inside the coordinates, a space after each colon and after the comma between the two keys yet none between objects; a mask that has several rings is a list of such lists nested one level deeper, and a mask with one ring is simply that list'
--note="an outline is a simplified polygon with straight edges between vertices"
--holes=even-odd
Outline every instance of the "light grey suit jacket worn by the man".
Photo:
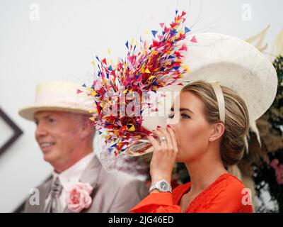
[{"label": "light grey suit jacket worn by the man", "polygon": [[[88,182],[93,187],[92,204],[88,209],[83,209],[81,212],[128,212],[148,194],[144,182],[125,172],[105,171],[97,157],[94,157],[86,167],[80,182]],[[40,204],[31,205],[30,199],[27,199],[23,212],[42,213],[51,184],[52,179],[49,179],[37,187],[40,192]],[[71,211],[66,207],[64,213],[69,212]]]}]

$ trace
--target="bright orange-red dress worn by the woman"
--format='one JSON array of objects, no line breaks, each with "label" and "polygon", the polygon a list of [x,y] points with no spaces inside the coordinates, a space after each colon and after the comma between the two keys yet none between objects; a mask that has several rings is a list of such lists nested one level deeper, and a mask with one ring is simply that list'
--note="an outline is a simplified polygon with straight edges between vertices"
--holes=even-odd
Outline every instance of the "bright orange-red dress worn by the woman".
[{"label": "bright orange-red dress worn by the woman", "polygon": [[[151,193],[130,212],[132,213],[180,213],[180,199],[190,191],[190,182],[169,192]],[[198,194],[187,206],[185,213],[253,213],[250,195],[243,183],[230,173],[219,176]]]}]

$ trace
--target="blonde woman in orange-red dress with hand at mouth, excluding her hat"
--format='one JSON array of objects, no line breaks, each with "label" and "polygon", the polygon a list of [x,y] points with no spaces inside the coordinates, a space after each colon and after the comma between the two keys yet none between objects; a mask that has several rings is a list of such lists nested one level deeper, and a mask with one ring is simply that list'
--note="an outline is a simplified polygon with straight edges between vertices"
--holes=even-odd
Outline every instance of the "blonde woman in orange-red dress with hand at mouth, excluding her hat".
[{"label": "blonde woman in orange-red dress with hand at mouth, excluding her hat", "polygon": [[[248,189],[226,170],[243,157],[249,128],[245,101],[227,87],[198,81],[182,89],[180,109],[171,111],[178,123],[157,127],[159,140],[149,136],[153,184],[131,212],[253,212]],[[167,184],[175,161],[185,162],[191,181],[171,193]]]}]

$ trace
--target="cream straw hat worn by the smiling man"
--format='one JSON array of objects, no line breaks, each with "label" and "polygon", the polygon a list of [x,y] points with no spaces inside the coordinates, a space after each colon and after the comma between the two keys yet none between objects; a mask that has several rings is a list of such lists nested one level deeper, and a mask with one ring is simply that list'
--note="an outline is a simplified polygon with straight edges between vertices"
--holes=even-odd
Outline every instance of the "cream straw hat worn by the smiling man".
[{"label": "cream straw hat worn by the smiling man", "polygon": [[38,111],[65,111],[74,114],[91,114],[93,99],[83,92],[86,88],[74,82],[49,81],[38,84],[35,104],[26,106],[19,114],[30,121]]}]

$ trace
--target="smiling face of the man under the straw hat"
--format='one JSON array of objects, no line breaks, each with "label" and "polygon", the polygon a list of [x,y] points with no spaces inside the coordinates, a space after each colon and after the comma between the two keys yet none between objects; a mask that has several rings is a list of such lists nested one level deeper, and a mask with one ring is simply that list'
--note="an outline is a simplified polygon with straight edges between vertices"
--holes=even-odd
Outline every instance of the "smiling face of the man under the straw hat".
[{"label": "smiling face of the man under the straw hat", "polygon": [[45,161],[59,165],[74,157],[80,144],[81,116],[62,111],[35,114],[35,139]]}]

